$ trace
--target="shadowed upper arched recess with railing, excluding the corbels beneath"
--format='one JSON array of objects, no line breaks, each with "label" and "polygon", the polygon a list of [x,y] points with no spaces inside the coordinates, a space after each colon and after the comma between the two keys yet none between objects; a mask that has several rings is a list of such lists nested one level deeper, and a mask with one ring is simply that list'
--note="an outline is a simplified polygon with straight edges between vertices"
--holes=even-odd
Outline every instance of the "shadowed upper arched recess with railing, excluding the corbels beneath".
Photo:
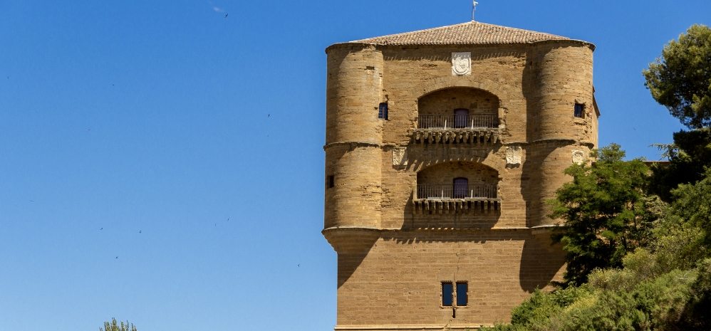
[{"label": "shadowed upper arched recess with railing, excluding the corbels beneath", "polygon": [[499,127],[499,103],[496,95],[477,88],[436,90],[417,99],[417,127]]}]

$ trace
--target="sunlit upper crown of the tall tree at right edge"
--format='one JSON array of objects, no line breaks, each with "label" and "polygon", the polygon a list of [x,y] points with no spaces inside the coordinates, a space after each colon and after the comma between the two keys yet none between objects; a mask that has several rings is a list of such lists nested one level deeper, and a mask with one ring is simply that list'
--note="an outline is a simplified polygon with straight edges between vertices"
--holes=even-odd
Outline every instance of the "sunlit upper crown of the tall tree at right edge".
[{"label": "sunlit upper crown of the tall tree at right edge", "polygon": [[684,125],[711,125],[711,28],[691,26],[643,74],[654,100]]}]

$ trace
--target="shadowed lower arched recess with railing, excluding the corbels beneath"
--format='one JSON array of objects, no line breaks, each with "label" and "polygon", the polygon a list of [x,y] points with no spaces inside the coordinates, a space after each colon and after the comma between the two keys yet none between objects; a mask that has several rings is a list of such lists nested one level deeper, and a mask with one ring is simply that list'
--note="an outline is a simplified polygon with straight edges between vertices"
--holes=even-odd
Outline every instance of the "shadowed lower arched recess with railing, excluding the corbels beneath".
[{"label": "shadowed lower arched recess with railing, excluding the corbels beneath", "polygon": [[[461,187],[464,179],[466,188]],[[496,199],[498,184],[499,172],[492,167],[478,162],[443,162],[417,172],[415,199]]]}]

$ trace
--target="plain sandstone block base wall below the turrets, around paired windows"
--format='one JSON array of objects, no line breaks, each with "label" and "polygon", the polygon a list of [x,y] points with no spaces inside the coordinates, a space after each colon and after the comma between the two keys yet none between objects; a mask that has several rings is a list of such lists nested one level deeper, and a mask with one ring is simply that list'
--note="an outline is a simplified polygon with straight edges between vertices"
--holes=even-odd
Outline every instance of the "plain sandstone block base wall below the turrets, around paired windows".
[{"label": "plain sandstone block base wall below the turrets, around paired windows", "polygon": [[[489,325],[559,277],[564,261],[528,231],[388,231],[338,255],[338,325]],[[442,281],[466,281],[469,303],[442,306]],[[420,329],[421,330],[421,329]]]}]

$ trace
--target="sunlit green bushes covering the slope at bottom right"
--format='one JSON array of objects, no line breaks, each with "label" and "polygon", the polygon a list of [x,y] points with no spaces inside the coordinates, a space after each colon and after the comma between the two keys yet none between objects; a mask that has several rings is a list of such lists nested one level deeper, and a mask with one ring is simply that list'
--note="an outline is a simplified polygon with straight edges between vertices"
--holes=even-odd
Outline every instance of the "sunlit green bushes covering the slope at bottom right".
[{"label": "sunlit green bushes covering the slope at bottom right", "polygon": [[593,270],[578,287],[536,291],[514,308],[511,324],[492,330],[711,330],[711,170],[674,190],[660,214],[650,241],[621,268]]}]

